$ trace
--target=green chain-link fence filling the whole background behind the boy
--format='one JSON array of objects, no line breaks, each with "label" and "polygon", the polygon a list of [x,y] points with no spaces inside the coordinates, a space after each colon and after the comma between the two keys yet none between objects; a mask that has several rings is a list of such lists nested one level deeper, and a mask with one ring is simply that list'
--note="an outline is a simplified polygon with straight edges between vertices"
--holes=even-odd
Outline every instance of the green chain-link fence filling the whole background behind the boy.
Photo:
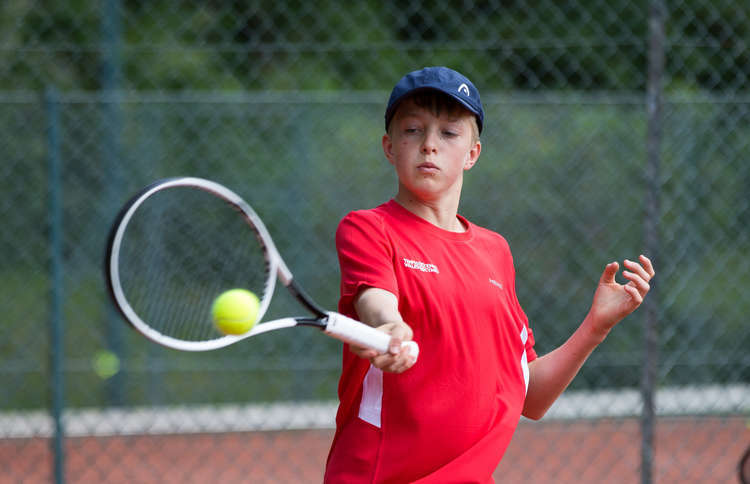
[{"label": "green chain-link fence filling the whole background behind the boy", "polygon": [[[731,482],[750,443],[750,6],[741,0],[0,4],[0,481],[316,482],[340,346],[179,354],[118,320],[101,263],[156,178],[242,194],[335,307],[333,233],[395,190],[389,89],[482,92],[461,213],[506,236],[537,351],[602,267],[658,277],[498,482]],[[282,292],[271,308],[298,309]]]}]

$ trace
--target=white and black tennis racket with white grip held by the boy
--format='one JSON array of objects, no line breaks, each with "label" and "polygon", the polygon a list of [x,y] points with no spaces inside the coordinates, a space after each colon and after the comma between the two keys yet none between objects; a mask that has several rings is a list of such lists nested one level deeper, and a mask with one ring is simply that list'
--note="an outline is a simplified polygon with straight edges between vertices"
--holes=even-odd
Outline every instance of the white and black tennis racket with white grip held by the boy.
[{"label": "white and black tennis racket with white grip held by the boy", "polygon": [[[346,343],[388,351],[388,334],[315,303],[250,205],[213,181],[164,179],[131,198],[110,231],[105,272],[125,320],[169,348],[213,350],[267,331],[313,326]],[[309,316],[261,322],[277,277]],[[259,323],[242,335],[220,333],[211,317],[213,300],[232,288],[260,300]],[[404,345],[416,358],[418,345]]]}]

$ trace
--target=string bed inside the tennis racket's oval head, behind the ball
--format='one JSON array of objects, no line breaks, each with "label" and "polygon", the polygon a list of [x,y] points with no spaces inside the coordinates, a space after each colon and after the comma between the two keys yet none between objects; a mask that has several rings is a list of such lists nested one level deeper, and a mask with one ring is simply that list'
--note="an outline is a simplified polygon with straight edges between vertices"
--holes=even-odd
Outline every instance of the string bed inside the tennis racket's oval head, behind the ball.
[{"label": "string bed inside the tennis racket's oval head, behind the ball", "polygon": [[139,318],[184,341],[222,336],[211,320],[220,293],[240,287],[263,299],[269,289],[265,248],[247,219],[223,199],[190,187],[156,192],[138,207],[118,263]]}]

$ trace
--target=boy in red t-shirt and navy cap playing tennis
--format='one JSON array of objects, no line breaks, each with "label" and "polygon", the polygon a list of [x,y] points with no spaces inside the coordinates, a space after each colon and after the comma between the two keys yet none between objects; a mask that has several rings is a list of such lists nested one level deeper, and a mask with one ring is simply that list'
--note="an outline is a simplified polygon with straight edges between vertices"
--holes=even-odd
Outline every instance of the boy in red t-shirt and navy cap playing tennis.
[{"label": "boy in red t-shirt and navy cap playing tennis", "polygon": [[[329,483],[489,483],[521,415],[541,418],[588,355],[635,310],[651,262],[612,262],[586,318],[537,357],[508,243],[458,215],[482,150],[474,85],[445,67],[407,74],[385,113],[398,176],[387,203],[340,223],[339,310],[392,335],[388,354],[344,351]],[[400,349],[416,340],[418,361]]]}]

